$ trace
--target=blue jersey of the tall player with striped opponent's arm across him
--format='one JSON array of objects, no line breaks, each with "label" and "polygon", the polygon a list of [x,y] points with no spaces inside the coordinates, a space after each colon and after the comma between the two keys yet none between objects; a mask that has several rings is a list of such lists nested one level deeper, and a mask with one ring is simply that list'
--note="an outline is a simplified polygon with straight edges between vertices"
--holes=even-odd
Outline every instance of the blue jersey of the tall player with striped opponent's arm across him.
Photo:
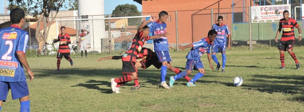
[{"label": "blue jersey of the tall player with striped opponent's arm across him", "polygon": [[[159,21],[156,20],[154,22],[150,22],[148,26],[150,28],[152,36],[166,33],[166,23],[159,23]],[[157,39],[153,39],[153,44],[154,51],[169,51],[169,43],[167,37],[159,37]]]}]

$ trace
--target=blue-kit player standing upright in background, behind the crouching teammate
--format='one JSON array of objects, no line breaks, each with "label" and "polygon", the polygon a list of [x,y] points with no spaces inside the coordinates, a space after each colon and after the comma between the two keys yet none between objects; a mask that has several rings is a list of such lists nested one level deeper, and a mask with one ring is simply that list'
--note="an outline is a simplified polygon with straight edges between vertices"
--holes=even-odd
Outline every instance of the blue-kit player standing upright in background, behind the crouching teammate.
[{"label": "blue-kit player standing upright in background, behind the crouching teammate", "polygon": [[213,24],[212,29],[217,32],[217,37],[214,40],[213,46],[212,46],[212,58],[214,62],[217,64],[216,66],[216,71],[219,71],[221,68],[221,64],[217,60],[216,54],[221,52],[222,53],[222,62],[223,62],[223,67],[222,67],[222,73],[225,72],[225,64],[226,64],[226,45],[227,45],[227,37],[226,34],[228,35],[228,49],[231,49],[230,41],[231,41],[231,35],[228,29],[228,26],[223,24],[223,17],[219,16],[217,19],[218,23]]}]

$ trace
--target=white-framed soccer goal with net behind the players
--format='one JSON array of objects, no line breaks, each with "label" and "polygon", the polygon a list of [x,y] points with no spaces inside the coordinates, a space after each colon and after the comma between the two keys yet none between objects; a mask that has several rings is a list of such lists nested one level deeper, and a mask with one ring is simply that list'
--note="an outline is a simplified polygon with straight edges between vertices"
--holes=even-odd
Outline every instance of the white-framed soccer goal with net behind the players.
[{"label": "white-framed soccer goal with net behind the players", "polygon": [[[87,49],[90,52],[105,54],[122,54],[130,47],[137,33],[138,26],[149,16],[116,17],[102,19],[61,19],[57,20],[57,31],[61,26],[66,27],[66,33],[71,36],[71,44],[76,52],[79,51],[79,34],[81,29],[90,33],[86,36]],[[59,34],[60,32],[57,32]],[[48,39],[48,43],[51,40]],[[58,46],[55,44],[55,46]]]}]

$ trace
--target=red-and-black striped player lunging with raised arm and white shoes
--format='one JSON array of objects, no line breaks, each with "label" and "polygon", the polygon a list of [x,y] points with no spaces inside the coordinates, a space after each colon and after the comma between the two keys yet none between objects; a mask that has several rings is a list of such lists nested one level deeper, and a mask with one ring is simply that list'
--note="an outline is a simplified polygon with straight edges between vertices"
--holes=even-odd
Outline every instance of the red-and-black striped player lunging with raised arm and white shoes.
[{"label": "red-and-black striped player lunging with raised arm and white shoes", "polygon": [[151,18],[147,21],[145,21],[143,24],[141,24],[137,30],[137,33],[135,37],[133,38],[133,42],[130,46],[130,48],[126,51],[126,53],[122,57],[123,61],[123,74],[125,74],[122,77],[119,78],[112,78],[111,79],[111,88],[112,91],[115,93],[120,93],[119,87],[123,84],[126,84],[128,81],[134,80],[137,78],[137,68],[135,67],[136,63],[136,56],[139,54],[139,52],[142,49],[142,46],[144,45],[146,40],[149,39],[155,39],[159,37],[167,37],[170,35],[170,33],[155,35],[155,36],[148,36],[149,35],[149,27],[147,24],[151,21],[154,21],[156,17],[151,16]]}]

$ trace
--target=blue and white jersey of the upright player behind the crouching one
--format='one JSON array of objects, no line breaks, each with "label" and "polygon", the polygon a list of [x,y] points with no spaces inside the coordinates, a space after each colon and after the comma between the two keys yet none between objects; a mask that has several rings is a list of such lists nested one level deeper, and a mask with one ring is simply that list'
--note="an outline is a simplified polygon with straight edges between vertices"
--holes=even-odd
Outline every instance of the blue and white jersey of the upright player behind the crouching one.
[{"label": "blue and white jersey of the upright player behind the crouching one", "polygon": [[213,24],[212,30],[215,30],[217,32],[217,36],[216,36],[213,44],[214,45],[225,45],[227,43],[226,34],[230,35],[228,26],[225,24],[222,24],[222,26],[219,26],[218,24]]}]

